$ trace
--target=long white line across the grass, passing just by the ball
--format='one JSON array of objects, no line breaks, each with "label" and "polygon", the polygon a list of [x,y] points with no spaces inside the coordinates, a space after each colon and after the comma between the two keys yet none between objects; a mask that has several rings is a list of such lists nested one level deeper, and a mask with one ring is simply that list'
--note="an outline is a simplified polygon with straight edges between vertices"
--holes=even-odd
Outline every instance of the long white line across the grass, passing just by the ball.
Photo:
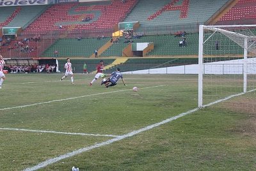
[{"label": "long white line across the grass, passing just by the ball", "polygon": [[[163,87],[163,86],[166,86],[166,85],[157,85],[157,86],[152,86],[152,87],[144,87],[144,88],[141,88],[141,89],[150,89],[150,88]],[[118,93],[118,92],[123,92],[123,91],[131,91],[131,89],[124,89],[124,90],[118,90],[118,91],[109,91],[109,92],[97,93],[97,94],[87,94],[87,95],[84,95],[84,96],[77,96],[77,97],[74,97],[74,98],[63,98],[63,99],[58,99],[58,100],[44,101],[44,102],[40,102],[40,103],[33,103],[33,104],[22,105],[22,106],[17,106],[17,107],[0,108],[0,110],[8,110],[8,109],[22,108],[22,107],[32,107],[32,106],[35,106],[35,105],[43,105],[43,104],[52,103],[52,102],[56,102],[56,101],[74,100],[74,99],[77,99],[77,98],[85,98],[85,97],[97,96],[97,95],[102,95],[102,94]]]}]

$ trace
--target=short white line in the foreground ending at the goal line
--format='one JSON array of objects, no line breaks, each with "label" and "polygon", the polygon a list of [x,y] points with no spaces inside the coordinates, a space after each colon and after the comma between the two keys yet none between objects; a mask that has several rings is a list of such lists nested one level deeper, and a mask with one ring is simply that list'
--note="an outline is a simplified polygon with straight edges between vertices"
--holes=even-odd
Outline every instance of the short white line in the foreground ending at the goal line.
[{"label": "short white line in the foreground ending at the goal line", "polygon": [[118,137],[117,135],[100,135],[100,134],[92,134],[92,133],[67,133],[67,132],[59,132],[59,131],[27,130],[27,129],[19,129],[19,128],[0,128],[0,130],[27,131],[27,132],[36,132],[36,133],[58,133],[58,134],[66,134],[66,135],[83,135],[83,136],[94,136],[94,137]]}]

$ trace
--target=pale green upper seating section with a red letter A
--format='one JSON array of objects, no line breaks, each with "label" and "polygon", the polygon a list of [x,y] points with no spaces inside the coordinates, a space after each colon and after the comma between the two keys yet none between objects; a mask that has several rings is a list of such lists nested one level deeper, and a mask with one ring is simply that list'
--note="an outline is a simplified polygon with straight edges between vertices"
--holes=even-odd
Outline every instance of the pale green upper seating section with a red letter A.
[{"label": "pale green upper seating section with a red letter A", "polygon": [[[143,27],[175,24],[203,24],[227,1],[172,0],[170,2],[141,0],[129,13],[125,22],[139,21],[142,29]],[[145,6],[147,6],[147,10],[145,10]]]}]

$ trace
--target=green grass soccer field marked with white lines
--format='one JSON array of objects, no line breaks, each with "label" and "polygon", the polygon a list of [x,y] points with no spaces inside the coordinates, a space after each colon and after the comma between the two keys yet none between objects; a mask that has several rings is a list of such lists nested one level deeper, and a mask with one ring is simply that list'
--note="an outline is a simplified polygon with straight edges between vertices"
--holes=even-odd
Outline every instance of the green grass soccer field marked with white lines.
[{"label": "green grass soccer field marked with white lines", "polygon": [[0,170],[256,170],[255,110],[198,109],[197,75],[61,76],[6,75]]}]

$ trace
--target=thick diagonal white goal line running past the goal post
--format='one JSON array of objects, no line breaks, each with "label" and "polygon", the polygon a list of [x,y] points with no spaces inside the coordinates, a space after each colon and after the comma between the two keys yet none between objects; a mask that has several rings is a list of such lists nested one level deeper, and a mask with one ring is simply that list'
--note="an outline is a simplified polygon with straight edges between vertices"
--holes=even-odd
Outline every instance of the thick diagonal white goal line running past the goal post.
[{"label": "thick diagonal white goal line running past the goal post", "polygon": [[[256,89],[253,89],[252,91],[255,91],[255,90]],[[252,91],[248,91],[248,93],[250,93]],[[239,93],[239,94],[236,94],[236,95],[228,96],[227,98],[223,98],[222,100],[216,101],[216,103],[220,103],[221,101],[225,101],[225,100],[228,100],[228,99],[233,98],[235,96],[240,96],[240,95],[243,95],[243,94],[245,94],[245,93]],[[209,107],[209,106],[214,105],[216,103],[214,103],[214,102],[213,103],[209,103],[207,105],[204,105],[204,107]],[[56,158],[51,158],[49,160],[45,160],[42,163],[39,163],[38,165],[35,165],[34,167],[29,167],[29,168],[24,169],[24,171],[38,170],[40,168],[47,167],[48,165],[51,165],[52,163],[56,163],[56,162],[58,162],[60,160],[63,160],[65,158],[70,158],[72,156],[76,156],[77,154],[81,154],[82,152],[90,151],[92,149],[99,148],[99,147],[102,147],[102,146],[105,146],[105,145],[108,145],[108,144],[112,144],[113,142],[117,142],[117,141],[123,140],[124,138],[132,137],[132,136],[137,135],[138,133],[141,133],[143,131],[151,130],[152,128],[156,128],[157,126],[161,126],[162,124],[170,123],[171,121],[173,121],[175,119],[178,119],[179,117],[182,117],[182,116],[185,116],[185,115],[188,115],[188,114],[192,114],[193,112],[196,112],[199,109],[200,108],[194,108],[192,110],[189,110],[188,112],[184,112],[184,113],[176,115],[174,117],[170,117],[168,119],[165,119],[164,121],[161,121],[160,123],[151,124],[149,126],[141,128],[140,130],[132,131],[130,133],[118,136],[116,138],[112,138],[111,140],[107,140],[105,142],[101,142],[101,143],[95,144],[95,145],[90,145],[88,147],[84,147],[84,148],[78,149],[76,151],[68,152],[68,153],[63,154],[61,156],[58,156]]]}]

